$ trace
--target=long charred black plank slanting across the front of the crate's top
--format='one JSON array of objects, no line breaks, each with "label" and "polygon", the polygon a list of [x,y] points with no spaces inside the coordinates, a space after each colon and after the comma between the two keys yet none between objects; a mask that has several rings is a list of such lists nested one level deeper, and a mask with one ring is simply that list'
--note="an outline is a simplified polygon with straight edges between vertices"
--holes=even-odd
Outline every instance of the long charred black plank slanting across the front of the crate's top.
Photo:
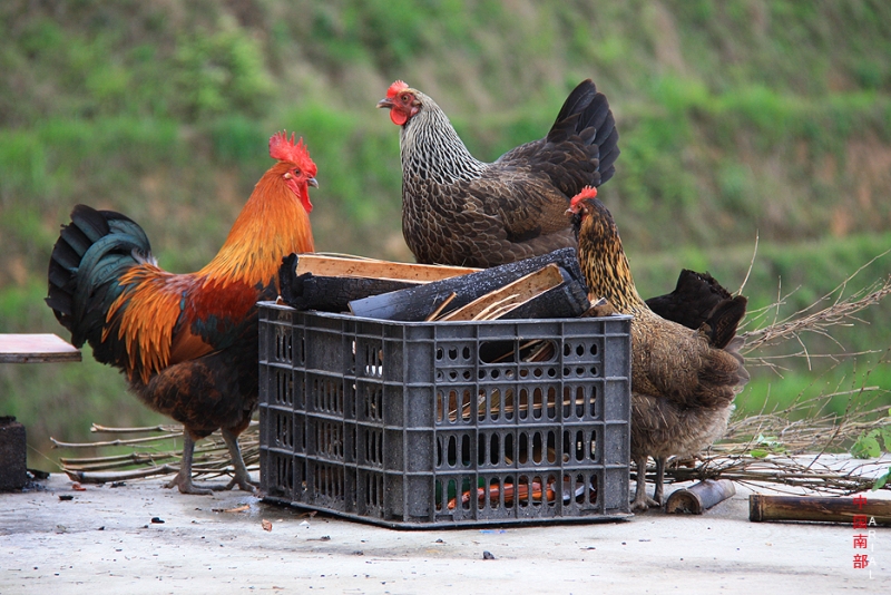
[{"label": "long charred black plank slanting across the front of the crate's top", "polygon": [[350,302],[356,316],[380,320],[423,321],[442,301],[456,293],[451,305],[461,308],[477,298],[528,275],[550,263],[564,269],[575,281],[585,283],[575,248],[562,248],[549,254],[526,259],[477,273],[434,281],[418,287],[372,295]]}]

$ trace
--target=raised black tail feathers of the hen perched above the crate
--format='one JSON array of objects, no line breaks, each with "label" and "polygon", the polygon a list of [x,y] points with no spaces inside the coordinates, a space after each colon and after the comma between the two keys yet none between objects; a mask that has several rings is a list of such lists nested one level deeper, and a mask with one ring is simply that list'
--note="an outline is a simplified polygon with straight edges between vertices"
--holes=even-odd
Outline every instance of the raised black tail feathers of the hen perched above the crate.
[{"label": "raised black tail feathers of the hen perched above the crate", "polygon": [[566,98],[547,139],[560,142],[574,134],[586,145],[598,146],[600,182],[597,185],[611,178],[619,156],[619,131],[606,96],[597,92],[591,79],[581,81]]}]

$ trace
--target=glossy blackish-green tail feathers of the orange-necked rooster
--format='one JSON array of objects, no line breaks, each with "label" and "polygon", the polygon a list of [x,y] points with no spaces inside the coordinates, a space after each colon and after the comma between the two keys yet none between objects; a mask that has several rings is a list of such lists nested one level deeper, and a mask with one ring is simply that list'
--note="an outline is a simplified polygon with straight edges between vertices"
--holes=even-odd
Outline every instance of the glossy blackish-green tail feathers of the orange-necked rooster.
[{"label": "glossy blackish-green tail feathers of the orange-necked rooster", "polygon": [[102,345],[102,328],[121,291],[118,279],[150,260],[148,237],[134,221],[114,211],[74,208],[50,255],[47,304],[71,331],[75,345],[89,342],[98,361],[114,363],[110,348]]}]

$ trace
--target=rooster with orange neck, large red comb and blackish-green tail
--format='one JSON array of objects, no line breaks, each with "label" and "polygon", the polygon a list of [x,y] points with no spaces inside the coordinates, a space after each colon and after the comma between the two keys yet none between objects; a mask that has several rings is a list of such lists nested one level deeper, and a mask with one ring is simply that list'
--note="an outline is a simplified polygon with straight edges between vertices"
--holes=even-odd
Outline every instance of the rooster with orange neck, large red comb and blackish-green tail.
[{"label": "rooster with orange neck, large red comb and blackish-green tail", "polygon": [[[184,425],[184,494],[254,491],[237,437],[256,409],[258,300],[277,295],[282,257],[312,252],[309,186],[316,167],[301,139],[270,139],[277,159],[257,182],[219,253],[200,271],[158,267],[145,232],[112,211],[78,205],[49,263],[47,304],[94,357],[118,368],[141,401]],[[195,440],[222,429],[234,467],[228,485],[192,480]]]}]

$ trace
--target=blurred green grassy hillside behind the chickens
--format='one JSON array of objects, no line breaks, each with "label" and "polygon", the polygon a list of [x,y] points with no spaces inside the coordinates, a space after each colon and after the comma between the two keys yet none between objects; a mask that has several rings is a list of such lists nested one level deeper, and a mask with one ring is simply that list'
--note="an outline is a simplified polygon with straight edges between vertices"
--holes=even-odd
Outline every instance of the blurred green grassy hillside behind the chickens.
[{"label": "blurred green grassy hillside behind the chickens", "polygon": [[[63,334],[42,296],[77,203],[139,222],[168,270],[204,265],[283,128],[319,165],[317,248],[411,260],[398,130],[374,109],[396,78],[437,98],[489,160],[544,136],[593,78],[623,152],[600,196],[642,293],[668,291],[682,267],[733,289],[748,275],[753,310],[784,296],[789,315],[891,247],[889,22],[882,0],[7,0],[0,332]],[[889,273],[879,259],[844,291]],[[891,322],[875,310],[833,340],[887,349]],[[870,382],[891,386],[870,358]],[[824,373],[790,365],[782,381],[756,370],[741,402],[780,402]],[[41,448],[91,421],[159,421],[88,352],[35,368],[0,368],[0,413]],[[830,382],[858,378],[832,370]]]}]

